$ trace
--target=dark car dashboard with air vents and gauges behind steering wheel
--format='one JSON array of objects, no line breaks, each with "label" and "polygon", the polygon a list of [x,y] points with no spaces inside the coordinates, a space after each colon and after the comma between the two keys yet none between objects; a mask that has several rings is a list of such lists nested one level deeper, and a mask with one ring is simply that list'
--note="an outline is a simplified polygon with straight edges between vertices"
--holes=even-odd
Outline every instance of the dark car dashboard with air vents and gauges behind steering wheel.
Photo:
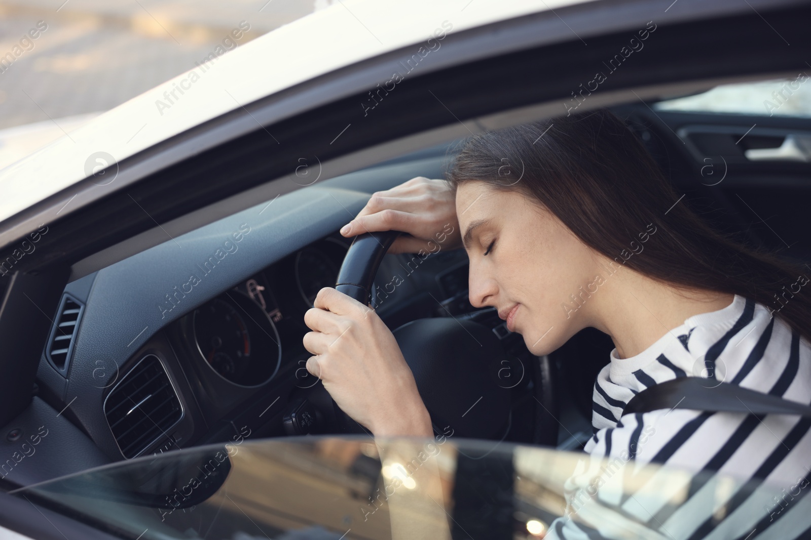
[{"label": "dark car dashboard with air vents and gauges behind steering wheel", "polygon": [[[298,189],[74,279],[37,397],[109,461],[320,432],[333,405],[305,368],[303,317],[349,248],[337,230],[375,190],[415,176],[415,165],[439,175],[442,159]],[[387,255],[380,266],[372,305],[392,329],[467,302],[464,251],[417,261]]]}]

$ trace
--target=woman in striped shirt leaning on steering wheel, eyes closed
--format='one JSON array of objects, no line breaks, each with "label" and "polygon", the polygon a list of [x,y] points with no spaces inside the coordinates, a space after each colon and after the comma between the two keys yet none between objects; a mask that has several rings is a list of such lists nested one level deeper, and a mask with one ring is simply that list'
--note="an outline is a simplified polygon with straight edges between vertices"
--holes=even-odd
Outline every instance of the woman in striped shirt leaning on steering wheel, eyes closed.
[{"label": "woman in striped shirt leaning on steering wheel, eyes closed", "polygon": [[[375,193],[341,233],[408,232],[391,252],[417,253],[446,223],[456,236],[444,246],[461,244],[470,258],[470,303],[497,308],[534,355],[586,327],[613,340],[594,384],[594,436],[585,447],[593,457],[720,471],[787,490],[809,474],[811,419],[681,408],[622,415],[642,390],[689,376],[808,404],[811,271],[708,227],[617,117],[597,111],[474,135],[447,182],[420,177]],[[307,369],[375,436],[433,436],[393,334],[358,307],[320,291],[305,318],[313,330],[304,338],[313,354]],[[580,486],[588,497],[599,487]],[[700,500],[695,482],[689,494],[706,507],[703,525],[657,508],[643,521],[666,526],[660,534],[703,536],[716,523],[713,495]],[[727,502],[727,516],[744,512],[762,527],[807,512],[795,505],[769,519],[763,504]]]}]

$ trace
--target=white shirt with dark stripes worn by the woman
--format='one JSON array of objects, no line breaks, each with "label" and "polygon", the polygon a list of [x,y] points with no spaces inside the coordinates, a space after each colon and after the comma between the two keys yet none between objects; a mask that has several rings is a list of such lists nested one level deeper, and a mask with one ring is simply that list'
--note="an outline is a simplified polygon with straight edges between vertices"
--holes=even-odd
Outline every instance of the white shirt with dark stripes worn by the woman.
[{"label": "white shirt with dark stripes worn by the woman", "polygon": [[[622,415],[643,389],[684,376],[809,404],[811,344],[736,295],[636,356],[611,351],[594,385],[590,457],[567,481],[567,517],[547,538],[811,537],[811,418],[683,409]],[[690,474],[664,481],[659,467],[642,464]]]}]

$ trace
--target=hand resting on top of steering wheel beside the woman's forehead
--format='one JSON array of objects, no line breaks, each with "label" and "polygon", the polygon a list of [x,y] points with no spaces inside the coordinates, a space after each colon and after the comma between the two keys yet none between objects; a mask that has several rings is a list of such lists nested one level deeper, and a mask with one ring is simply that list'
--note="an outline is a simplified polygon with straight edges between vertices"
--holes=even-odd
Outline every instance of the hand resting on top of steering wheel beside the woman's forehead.
[{"label": "hand resting on top of steering wheel beside the woman's forehead", "polygon": [[456,201],[448,183],[417,176],[386,191],[372,193],[363,210],[341,228],[341,235],[402,231],[411,236],[394,240],[388,253],[436,252],[461,248]]}]

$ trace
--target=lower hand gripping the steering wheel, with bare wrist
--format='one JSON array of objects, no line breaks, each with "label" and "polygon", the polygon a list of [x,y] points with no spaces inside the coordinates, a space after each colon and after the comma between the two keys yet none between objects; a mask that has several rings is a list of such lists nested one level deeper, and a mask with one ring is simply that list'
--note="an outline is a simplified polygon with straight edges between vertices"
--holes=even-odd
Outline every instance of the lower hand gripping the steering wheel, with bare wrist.
[{"label": "lower hand gripping the steering wheel, with bare wrist", "polygon": [[331,287],[304,323],[307,371],[347,415],[375,436],[433,436],[431,417],[394,335],[375,311]]}]

